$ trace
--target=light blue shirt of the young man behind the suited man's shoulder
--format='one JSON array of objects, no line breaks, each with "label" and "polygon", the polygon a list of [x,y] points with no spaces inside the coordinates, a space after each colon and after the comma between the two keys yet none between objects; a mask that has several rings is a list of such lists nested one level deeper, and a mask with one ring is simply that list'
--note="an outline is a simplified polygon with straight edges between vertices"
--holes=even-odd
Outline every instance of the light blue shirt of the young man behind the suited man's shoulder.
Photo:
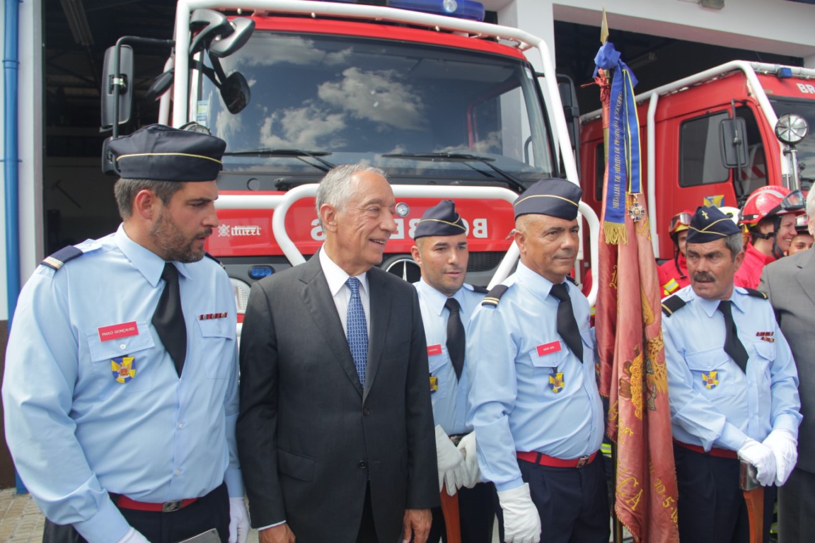
[{"label": "light blue shirt of the young man behind the suited man's shoulder", "polygon": [[[456,379],[456,370],[450,361],[450,353],[447,353],[447,318],[450,317],[450,312],[444,307],[447,296],[430,287],[424,279],[413,285],[419,294],[421,320],[425,323],[430,377],[436,378],[437,389],[433,391],[431,388],[430,392],[434,423],[443,427],[448,436],[468,433],[473,430],[466,418],[469,380],[466,370],[461,372],[460,379]],[[459,316],[466,330],[469,317],[484,299],[484,295],[465,284],[452,297],[461,306]]]}]

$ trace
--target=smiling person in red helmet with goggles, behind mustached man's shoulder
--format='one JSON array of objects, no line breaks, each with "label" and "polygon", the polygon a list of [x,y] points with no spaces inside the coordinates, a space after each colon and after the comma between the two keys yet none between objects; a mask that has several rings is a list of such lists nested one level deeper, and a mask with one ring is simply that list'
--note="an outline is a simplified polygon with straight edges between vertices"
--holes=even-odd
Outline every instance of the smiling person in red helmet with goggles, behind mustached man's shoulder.
[{"label": "smiling person in red helmet with goggles, behind mustached man's shoulder", "polygon": [[780,185],[753,190],[742,208],[750,243],[734,279],[737,287],[759,286],[764,265],[784,256],[795,237],[795,217],[804,212],[804,195]]}]

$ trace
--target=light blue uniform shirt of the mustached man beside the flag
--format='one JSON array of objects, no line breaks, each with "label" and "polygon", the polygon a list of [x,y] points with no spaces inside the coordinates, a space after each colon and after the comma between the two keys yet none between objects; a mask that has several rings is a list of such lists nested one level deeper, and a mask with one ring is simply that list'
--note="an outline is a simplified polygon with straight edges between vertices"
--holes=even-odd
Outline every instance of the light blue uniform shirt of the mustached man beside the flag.
[{"label": "light blue uniform shirt of the mustached man beside the flag", "polygon": [[[663,317],[673,436],[684,443],[738,450],[748,437],[773,430],[798,436],[798,373],[768,300],[735,287],[730,299],[738,339],[747,349],[747,374],[725,353],[725,317],[719,300],[676,295],[685,306]],[[772,342],[761,339],[766,337]]]}]

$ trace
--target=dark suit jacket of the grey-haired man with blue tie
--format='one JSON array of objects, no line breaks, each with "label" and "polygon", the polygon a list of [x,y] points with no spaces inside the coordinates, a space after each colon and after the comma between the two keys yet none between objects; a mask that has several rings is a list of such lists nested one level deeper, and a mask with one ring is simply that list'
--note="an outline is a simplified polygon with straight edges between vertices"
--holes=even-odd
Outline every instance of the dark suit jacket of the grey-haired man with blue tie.
[{"label": "dark suit jacket of the grey-haired man with blue tie", "polygon": [[368,482],[379,541],[404,510],[438,506],[427,345],[416,290],[368,271],[359,383],[319,258],[255,283],[240,338],[238,450],[255,528],[353,542]]}]

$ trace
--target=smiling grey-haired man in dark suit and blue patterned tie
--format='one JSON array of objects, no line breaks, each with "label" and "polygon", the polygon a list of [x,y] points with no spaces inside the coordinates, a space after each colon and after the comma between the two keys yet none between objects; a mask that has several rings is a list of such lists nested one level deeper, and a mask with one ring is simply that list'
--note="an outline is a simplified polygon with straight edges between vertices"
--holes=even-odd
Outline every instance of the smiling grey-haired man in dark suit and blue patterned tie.
[{"label": "smiling grey-haired man in dark suit and blue patterned tie", "polygon": [[394,206],[381,170],[333,169],[319,253],[252,288],[237,437],[261,543],[427,539],[438,480],[421,310],[375,267]]}]

